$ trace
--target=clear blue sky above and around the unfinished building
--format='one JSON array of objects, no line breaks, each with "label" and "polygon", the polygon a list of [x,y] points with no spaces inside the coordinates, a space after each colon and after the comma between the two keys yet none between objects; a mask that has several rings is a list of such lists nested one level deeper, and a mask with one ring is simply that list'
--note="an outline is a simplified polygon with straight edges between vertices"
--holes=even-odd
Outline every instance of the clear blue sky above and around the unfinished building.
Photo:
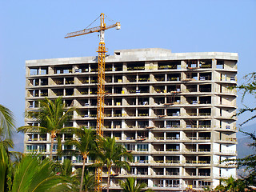
[{"label": "clear blue sky above and around the unfinished building", "polygon": [[102,12],[122,26],[106,31],[109,54],[150,47],[237,52],[240,80],[256,71],[255,10],[255,0],[0,0],[0,103],[22,126],[25,61],[96,55],[97,34],[64,36],[86,28]]}]

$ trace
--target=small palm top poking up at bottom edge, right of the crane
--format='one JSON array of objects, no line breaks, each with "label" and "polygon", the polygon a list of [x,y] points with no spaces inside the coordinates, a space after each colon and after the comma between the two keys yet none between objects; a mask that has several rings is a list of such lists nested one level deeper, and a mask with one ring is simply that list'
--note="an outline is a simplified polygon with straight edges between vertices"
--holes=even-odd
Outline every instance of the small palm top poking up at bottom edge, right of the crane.
[{"label": "small palm top poking up at bottom edge, right of the crane", "polygon": [[[126,178],[126,181],[121,181],[120,186],[122,187],[123,192],[141,192],[147,185],[145,182],[137,182],[136,178]],[[153,190],[146,190],[150,192]]]}]

